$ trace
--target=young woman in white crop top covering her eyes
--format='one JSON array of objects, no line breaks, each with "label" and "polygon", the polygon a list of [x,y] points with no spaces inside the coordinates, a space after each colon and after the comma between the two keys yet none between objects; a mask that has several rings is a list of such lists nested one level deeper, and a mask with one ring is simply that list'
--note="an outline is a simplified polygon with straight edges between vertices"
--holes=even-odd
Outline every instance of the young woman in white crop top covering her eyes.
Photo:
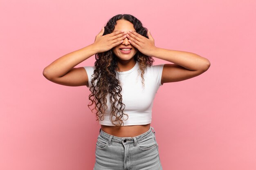
[{"label": "young woman in white crop top covering her eyes", "polygon": [[[94,54],[94,66],[74,68]],[[174,64],[152,65],[152,56]],[[164,83],[198,76],[209,66],[195,53],[156,47],[137,18],[119,14],[93,44],[58,58],[43,75],[57,84],[90,88],[88,106],[94,104],[101,124],[94,170],[162,170],[150,126],[155,93]]]}]

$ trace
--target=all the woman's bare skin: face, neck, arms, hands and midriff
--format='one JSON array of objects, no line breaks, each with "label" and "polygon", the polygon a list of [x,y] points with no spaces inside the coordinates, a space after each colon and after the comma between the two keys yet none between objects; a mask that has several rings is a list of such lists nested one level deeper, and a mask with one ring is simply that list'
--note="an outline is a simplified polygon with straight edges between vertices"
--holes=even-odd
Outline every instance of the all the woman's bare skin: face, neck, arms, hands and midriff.
[{"label": "all the woman's bare skin: face, neck, arms, hands and midriff", "polygon": [[[134,55],[137,51],[173,63],[164,64],[161,84],[190,79],[204,73],[210,67],[207,58],[195,53],[156,47],[149,30],[147,33],[149,38],[145,38],[136,33],[132,23],[126,20],[118,20],[113,33],[108,35],[103,35],[103,33],[104,29],[96,36],[93,44],[68,53],[45,67],[43,70],[45,78],[65,86],[88,86],[85,69],[83,67],[74,68],[74,66],[96,53],[110,49],[118,57],[117,71],[128,71],[135,66]],[[119,51],[119,48],[122,47],[132,48],[132,52],[122,54]],[[149,128],[150,124],[122,127],[101,125],[104,132],[117,137],[135,137],[148,131]]]}]

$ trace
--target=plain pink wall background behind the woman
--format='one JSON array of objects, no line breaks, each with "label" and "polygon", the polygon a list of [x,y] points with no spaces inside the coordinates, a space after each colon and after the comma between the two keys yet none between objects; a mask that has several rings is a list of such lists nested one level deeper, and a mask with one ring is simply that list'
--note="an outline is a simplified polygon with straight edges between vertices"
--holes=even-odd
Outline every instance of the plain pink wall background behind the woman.
[{"label": "plain pink wall background behind the woman", "polygon": [[92,170],[100,125],[89,89],[54,84],[43,68],[129,13],[157,47],[211,62],[157,92],[151,126],[164,170],[255,170],[255,9],[253,0],[1,0],[0,169]]}]

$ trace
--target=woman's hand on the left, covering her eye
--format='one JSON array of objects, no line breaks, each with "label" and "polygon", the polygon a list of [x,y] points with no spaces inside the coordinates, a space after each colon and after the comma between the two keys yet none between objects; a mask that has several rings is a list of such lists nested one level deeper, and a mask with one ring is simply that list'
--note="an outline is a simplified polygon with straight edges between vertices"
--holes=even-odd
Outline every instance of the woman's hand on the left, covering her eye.
[{"label": "woman's hand on the left, covering her eye", "polygon": [[[104,27],[102,27],[101,32],[96,35],[93,45],[97,49],[97,53],[103,53],[112,49],[114,46],[117,46],[124,42],[126,38],[126,32],[120,30],[115,31],[110,34],[103,35]],[[102,36],[103,35],[103,36]]]}]

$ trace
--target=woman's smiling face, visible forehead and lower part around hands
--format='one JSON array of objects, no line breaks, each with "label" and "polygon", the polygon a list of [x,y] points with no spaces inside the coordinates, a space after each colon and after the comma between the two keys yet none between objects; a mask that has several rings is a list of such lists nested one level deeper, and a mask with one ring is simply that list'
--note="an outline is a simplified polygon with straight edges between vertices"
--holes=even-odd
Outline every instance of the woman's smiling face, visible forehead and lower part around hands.
[{"label": "woman's smiling face, visible forehead and lower part around hands", "polygon": [[[133,24],[127,20],[117,20],[114,31],[124,30],[128,32],[129,30],[136,31]],[[113,31],[113,32],[114,32]],[[121,51],[122,48],[129,48],[130,51]],[[130,44],[128,38],[124,39],[124,42],[112,48],[113,53],[117,56],[118,60],[132,60],[134,55],[137,53],[137,49]]]}]

